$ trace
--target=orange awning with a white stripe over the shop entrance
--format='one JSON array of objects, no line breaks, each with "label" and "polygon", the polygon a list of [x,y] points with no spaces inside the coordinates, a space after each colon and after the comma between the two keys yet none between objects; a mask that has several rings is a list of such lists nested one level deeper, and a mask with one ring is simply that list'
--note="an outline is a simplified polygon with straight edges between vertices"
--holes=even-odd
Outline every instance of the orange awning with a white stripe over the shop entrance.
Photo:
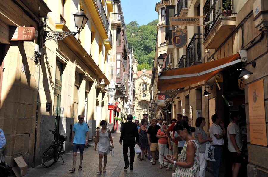
[{"label": "orange awning with a white stripe over the shop entrance", "polygon": [[241,62],[240,58],[239,54],[235,54],[186,68],[160,71],[157,84],[158,91],[175,90],[192,84],[204,84],[224,68]]}]

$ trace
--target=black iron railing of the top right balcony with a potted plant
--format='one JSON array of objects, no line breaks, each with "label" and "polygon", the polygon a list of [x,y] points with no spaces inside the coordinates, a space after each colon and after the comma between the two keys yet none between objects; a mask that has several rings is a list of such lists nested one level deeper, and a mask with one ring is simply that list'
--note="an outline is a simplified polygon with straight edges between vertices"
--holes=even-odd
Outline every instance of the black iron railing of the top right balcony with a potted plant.
[{"label": "black iron railing of the top right balcony with a potted plant", "polygon": [[[211,31],[212,27],[216,23],[217,19],[220,15],[223,16],[229,16],[234,15],[236,13],[233,13],[233,3],[228,4],[225,3],[228,0],[207,0],[205,2],[205,5],[203,7],[203,14],[205,16],[204,18],[204,25],[206,22],[210,22],[208,25],[204,28],[204,38],[207,37],[208,33]],[[223,3],[225,4],[225,7],[223,6]],[[221,8],[227,9],[225,12],[221,10]]]}]

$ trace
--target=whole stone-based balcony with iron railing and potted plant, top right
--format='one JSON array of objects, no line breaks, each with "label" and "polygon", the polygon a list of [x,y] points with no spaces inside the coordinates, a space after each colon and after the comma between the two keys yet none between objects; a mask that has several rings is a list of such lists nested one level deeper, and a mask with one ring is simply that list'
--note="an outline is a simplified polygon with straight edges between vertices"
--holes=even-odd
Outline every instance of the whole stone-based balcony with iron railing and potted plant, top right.
[{"label": "whole stone-based balcony with iron railing and potted plant, top right", "polygon": [[204,25],[206,22],[211,22],[204,28],[203,44],[205,48],[218,48],[236,27],[236,13],[233,13],[232,10],[223,13],[221,10],[223,2],[225,0],[207,0],[205,2]]}]

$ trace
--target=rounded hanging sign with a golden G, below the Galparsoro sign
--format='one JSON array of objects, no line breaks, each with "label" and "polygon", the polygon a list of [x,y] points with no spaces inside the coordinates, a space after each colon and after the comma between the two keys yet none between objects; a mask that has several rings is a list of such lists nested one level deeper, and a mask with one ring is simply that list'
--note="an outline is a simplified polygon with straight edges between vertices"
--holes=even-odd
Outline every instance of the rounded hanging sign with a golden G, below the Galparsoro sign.
[{"label": "rounded hanging sign with a golden G, below the Galparsoro sign", "polygon": [[172,45],[175,48],[184,48],[187,44],[187,29],[177,28],[172,31]]}]

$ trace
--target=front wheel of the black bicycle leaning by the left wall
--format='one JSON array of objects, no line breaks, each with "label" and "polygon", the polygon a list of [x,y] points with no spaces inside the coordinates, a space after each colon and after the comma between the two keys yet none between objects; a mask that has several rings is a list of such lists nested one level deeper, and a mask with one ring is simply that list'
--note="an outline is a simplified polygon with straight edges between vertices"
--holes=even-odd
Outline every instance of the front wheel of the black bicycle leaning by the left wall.
[{"label": "front wheel of the black bicycle leaning by the left wall", "polygon": [[58,148],[52,146],[46,149],[42,157],[42,165],[45,168],[51,167],[55,162],[58,156]]}]

